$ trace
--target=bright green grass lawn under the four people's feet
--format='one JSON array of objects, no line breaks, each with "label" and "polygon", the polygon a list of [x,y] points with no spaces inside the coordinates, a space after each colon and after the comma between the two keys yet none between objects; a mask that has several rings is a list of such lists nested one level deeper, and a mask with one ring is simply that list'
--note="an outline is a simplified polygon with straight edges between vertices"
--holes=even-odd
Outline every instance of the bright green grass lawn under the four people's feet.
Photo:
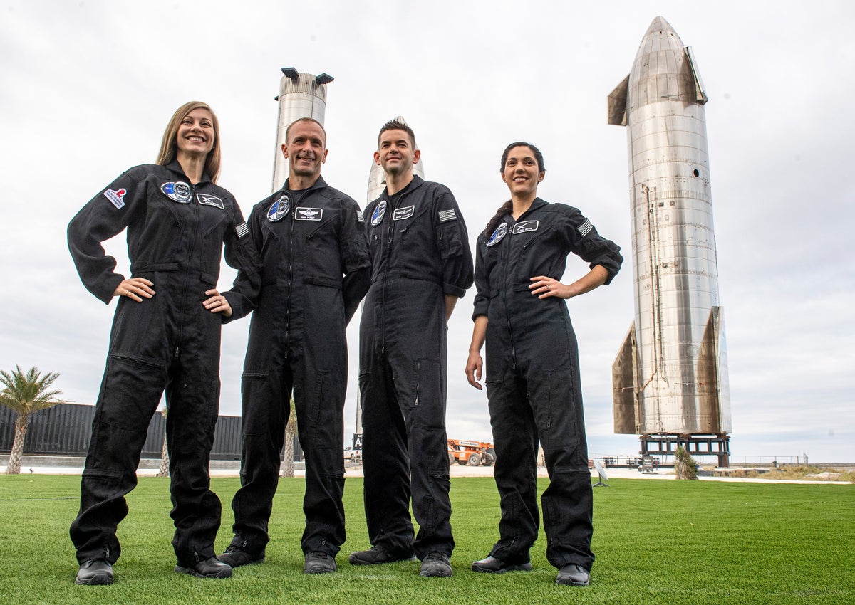
[{"label": "bright green grass lawn under the four people's feet", "polygon": [[[224,502],[217,551],[231,532],[238,479],[214,479]],[[303,479],[280,480],[267,562],[232,579],[174,573],[168,479],[143,478],[119,527],[112,586],[76,586],[68,525],[79,477],[0,476],[0,603],[851,603],[855,602],[855,485],[613,479],[594,490],[592,584],[554,584],[545,538],[534,571],[472,573],[496,538],[492,479],[453,479],[454,577],[422,579],[418,563],[351,567],[368,544],[362,479],[345,484],[348,539],[339,572],[303,573]],[[541,480],[540,488],[545,489]]]}]

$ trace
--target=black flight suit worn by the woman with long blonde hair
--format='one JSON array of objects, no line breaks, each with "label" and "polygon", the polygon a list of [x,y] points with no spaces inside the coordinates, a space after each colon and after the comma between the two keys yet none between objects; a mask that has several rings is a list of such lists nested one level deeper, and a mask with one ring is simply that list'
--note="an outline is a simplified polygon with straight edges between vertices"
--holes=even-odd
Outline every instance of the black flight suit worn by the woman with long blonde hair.
[{"label": "black flight suit worn by the woman with long blonde hair", "polygon": [[[134,167],[68,225],[80,279],[105,303],[124,277],[101,242],[126,227],[131,273],[152,281],[156,295],[118,302],[70,533],[81,563],[119,558],[116,526],[127,515],[125,495],[137,485],[149,422],[166,391],[173,545],[179,564],[192,567],[215,555],[221,512],[208,467],[225,319],[202,306],[204,292],[216,287],[223,244],[228,264],[248,273],[257,272],[258,256],[228,191],[207,176],[190,185],[178,162]],[[248,304],[238,295],[228,300],[234,308]]]}]

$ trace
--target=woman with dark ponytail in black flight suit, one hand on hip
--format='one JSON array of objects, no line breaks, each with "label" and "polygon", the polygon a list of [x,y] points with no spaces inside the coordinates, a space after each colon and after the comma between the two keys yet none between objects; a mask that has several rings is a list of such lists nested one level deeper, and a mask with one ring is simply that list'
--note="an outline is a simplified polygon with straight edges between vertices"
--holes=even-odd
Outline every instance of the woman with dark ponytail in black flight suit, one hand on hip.
[{"label": "woman with dark ponytail in black flight suit, one hand on hip", "polygon": [[[532,568],[528,551],[540,526],[540,442],[551,479],[541,498],[546,558],[558,569],[558,584],[587,586],[594,559],[593,493],[579,350],[563,301],[609,284],[623,258],[620,248],[601,237],[578,209],[537,197],[545,167],[534,145],[508,145],[501,175],[510,200],[478,237],[478,293],[466,378],[481,390],[486,342],[485,385],[496,446],[493,474],[502,517],[498,542],[472,569],[504,573]],[[559,279],[571,252],[590,263],[590,271],[563,284]]]}]

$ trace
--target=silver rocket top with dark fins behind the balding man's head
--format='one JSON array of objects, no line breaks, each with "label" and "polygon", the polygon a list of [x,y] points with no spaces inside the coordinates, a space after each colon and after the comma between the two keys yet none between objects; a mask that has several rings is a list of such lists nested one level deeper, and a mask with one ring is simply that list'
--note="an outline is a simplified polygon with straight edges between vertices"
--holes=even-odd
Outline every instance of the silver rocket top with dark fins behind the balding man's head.
[{"label": "silver rocket top with dark fins behind the balding man's head", "polygon": [[312,75],[298,73],[294,68],[282,68],[279,83],[279,120],[276,124],[276,150],[273,164],[273,187],[279,191],[288,178],[288,161],[282,156],[282,145],[288,126],[299,118],[314,118],[323,124],[327,111],[327,84],[333,77],[327,73]]}]

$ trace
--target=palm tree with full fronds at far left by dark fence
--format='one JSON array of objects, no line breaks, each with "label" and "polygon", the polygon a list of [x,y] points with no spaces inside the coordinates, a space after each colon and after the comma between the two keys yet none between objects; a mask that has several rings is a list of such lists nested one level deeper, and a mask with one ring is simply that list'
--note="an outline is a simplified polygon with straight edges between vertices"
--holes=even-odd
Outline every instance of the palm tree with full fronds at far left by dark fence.
[{"label": "palm tree with full fronds at far left by dark fence", "polygon": [[18,413],[15,417],[15,440],[12,443],[12,453],[9,454],[6,474],[21,473],[21,455],[24,453],[24,438],[27,437],[27,428],[30,426],[30,414],[39,409],[52,408],[57,403],[64,403],[56,399],[62,391],[48,391],[53,381],[58,378],[59,374],[55,372],[42,376],[38,367],[31,367],[26,374],[21,372],[20,366],[15,366],[12,373],[0,370],[0,383],[3,383],[0,404]]}]

